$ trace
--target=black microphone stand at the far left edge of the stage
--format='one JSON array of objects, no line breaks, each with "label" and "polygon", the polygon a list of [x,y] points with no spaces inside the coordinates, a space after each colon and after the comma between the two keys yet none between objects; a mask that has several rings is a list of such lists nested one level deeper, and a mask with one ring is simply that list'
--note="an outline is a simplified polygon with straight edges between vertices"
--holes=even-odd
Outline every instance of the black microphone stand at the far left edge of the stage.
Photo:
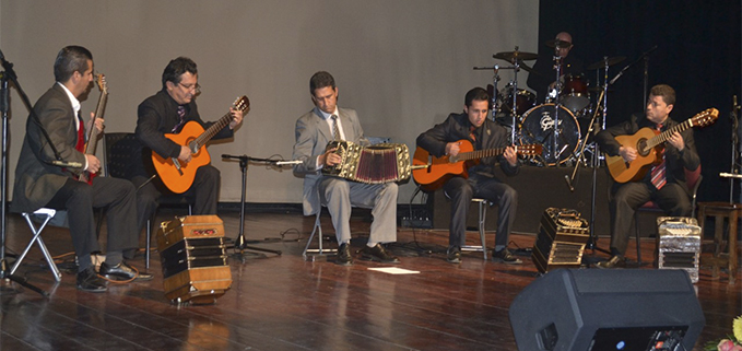
[{"label": "black microphone stand at the far left edge of the stage", "polygon": [[[28,96],[26,96],[26,94],[21,89],[21,84],[17,82],[17,77],[15,75],[15,71],[13,71],[13,63],[5,61],[5,57],[2,55],[2,51],[0,51],[0,61],[2,62],[2,68],[4,69],[3,72],[0,72],[2,74],[2,79],[0,79],[0,112],[2,113],[2,155],[0,157],[0,217],[2,218],[2,222],[0,223],[0,279],[9,279],[42,294],[42,296],[48,297],[49,294],[46,291],[30,284],[25,281],[25,279],[21,279],[11,274],[10,269],[8,268],[8,261],[5,260],[5,230],[8,226],[8,112],[10,110],[9,80],[13,82],[19,95],[21,95],[21,100],[25,103],[28,110],[31,110],[31,114],[36,117],[36,120],[38,120],[38,116],[36,116],[33,107],[31,106]],[[42,128],[42,131],[44,132],[44,136],[47,138],[47,140],[49,140],[49,136],[46,133],[46,130]],[[51,145],[55,154],[59,155],[59,152],[54,149],[54,144],[51,144],[51,142],[49,142],[49,145]],[[58,160],[61,160],[61,156],[58,157]],[[0,293],[2,291],[0,290]]]}]

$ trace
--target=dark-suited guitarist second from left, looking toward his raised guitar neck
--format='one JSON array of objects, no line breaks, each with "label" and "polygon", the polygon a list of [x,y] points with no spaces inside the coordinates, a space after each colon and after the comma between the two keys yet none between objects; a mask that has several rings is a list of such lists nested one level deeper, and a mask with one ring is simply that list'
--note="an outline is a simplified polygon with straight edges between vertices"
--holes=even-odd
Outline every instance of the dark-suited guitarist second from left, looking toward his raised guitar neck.
[{"label": "dark-suited guitarist second from left, looking toward his raised guitar neck", "polygon": [[[162,90],[148,97],[139,105],[137,119],[137,138],[141,143],[162,157],[177,157],[181,163],[191,161],[191,150],[165,137],[165,133],[179,133],[182,127],[195,121],[209,128],[213,122],[203,122],[196,105],[196,96],[201,93],[196,62],[187,57],[170,60],[162,75]],[[233,130],[243,121],[243,112],[231,108],[232,121],[220,130],[213,139],[225,139],[234,136]],[[193,138],[198,136],[192,136]],[[150,152],[144,149],[141,162],[136,162],[131,180],[137,186],[137,225],[141,229],[157,209],[163,194],[172,195],[162,184],[160,177],[149,180],[154,174]],[[202,153],[198,154],[199,156]],[[184,195],[192,199],[193,214],[216,214],[221,175],[211,164],[203,165],[196,172],[192,185]],[[141,187],[141,188],[140,188]]]}]

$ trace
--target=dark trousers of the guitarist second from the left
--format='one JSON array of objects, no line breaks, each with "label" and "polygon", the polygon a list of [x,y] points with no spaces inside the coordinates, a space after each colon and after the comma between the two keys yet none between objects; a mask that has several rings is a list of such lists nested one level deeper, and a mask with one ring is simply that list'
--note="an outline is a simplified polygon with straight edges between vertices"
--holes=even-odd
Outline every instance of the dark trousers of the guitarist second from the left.
[{"label": "dark trousers of the guitarist second from the left", "polygon": [[154,215],[162,196],[184,196],[193,203],[193,214],[216,214],[221,173],[212,165],[204,165],[196,171],[193,185],[181,194],[169,191],[157,177],[151,182],[143,176],[131,179],[137,189],[137,225],[141,231],[146,220]]}]

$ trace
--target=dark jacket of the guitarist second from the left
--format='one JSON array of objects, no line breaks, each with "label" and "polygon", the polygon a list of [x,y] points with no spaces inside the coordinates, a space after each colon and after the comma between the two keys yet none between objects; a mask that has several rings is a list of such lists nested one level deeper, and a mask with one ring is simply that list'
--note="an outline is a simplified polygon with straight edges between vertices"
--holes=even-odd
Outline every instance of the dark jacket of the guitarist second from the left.
[{"label": "dark jacket of the guitarist second from the left", "polygon": [[[150,167],[152,163],[150,151],[154,151],[163,157],[177,157],[180,154],[180,145],[165,138],[165,133],[178,133],[182,129],[182,126],[189,121],[198,122],[203,129],[207,129],[214,124],[201,120],[196,100],[191,100],[185,107],[185,122],[179,126],[177,130],[173,131],[173,128],[180,122],[178,103],[173,100],[165,89],[139,104],[139,108],[137,109],[137,129],[134,133],[145,148],[134,152],[138,156],[142,155],[143,160],[141,162],[134,160],[137,167],[134,168],[132,176],[139,175],[149,177],[153,174],[153,169]],[[233,136],[233,130],[227,126],[220,130],[212,139],[232,138]]]}]

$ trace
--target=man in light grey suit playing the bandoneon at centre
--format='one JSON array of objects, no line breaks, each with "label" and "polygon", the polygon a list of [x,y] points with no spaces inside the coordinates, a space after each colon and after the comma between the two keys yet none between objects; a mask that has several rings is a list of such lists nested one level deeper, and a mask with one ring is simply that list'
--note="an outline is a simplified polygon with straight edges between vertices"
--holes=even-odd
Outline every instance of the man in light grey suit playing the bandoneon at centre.
[{"label": "man in light grey suit playing the bandoneon at centre", "polygon": [[337,106],[338,87],[330,73],[315,73],[309,80],[309,92],[315,108],[296,120],[293,156],[303,161],[294,166],[294,172],[304,175],[304,214],[316,214],[321,204],[327,207],[340,245],[335,264],[351,266],[351,207],[372,209],[374,222],[361,258],[399,264],[381,245],[397,241],[397,184],[363,184],[322,175],[322,167],[341,162],[334,149],[326,150],[330,141],[346,140],[363,147],[370,143],[355,110]]}]

